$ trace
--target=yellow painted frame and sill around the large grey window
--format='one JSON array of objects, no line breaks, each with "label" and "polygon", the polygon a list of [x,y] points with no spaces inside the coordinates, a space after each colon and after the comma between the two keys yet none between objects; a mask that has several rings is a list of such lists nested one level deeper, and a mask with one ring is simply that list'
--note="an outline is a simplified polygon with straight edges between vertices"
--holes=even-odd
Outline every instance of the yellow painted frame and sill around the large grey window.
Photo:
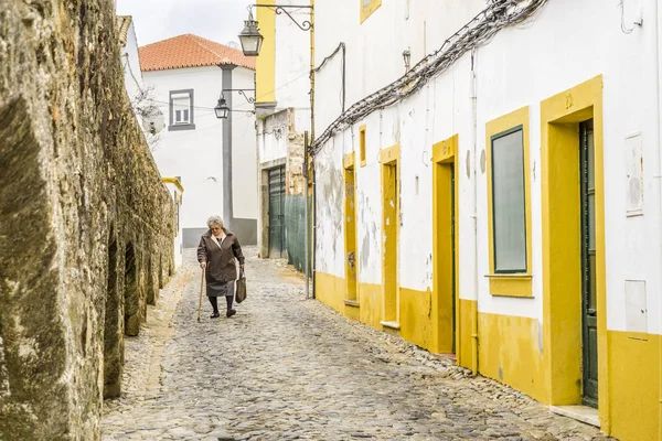
[{"label": "yellow painted frame and sill around the large grey window", "polygon": [[[526,272],[532,273],[531,250],[531,173],[530,173],[530,131],[528,131],[528,107],[523,107],[500,118],[493,119],[485,125],[485,153],[488,169],[488,247],[490,275],[494,273],[494,229],[493,229],[493,201],[492,201],[492,137],[514,127],[522,126],[522,143],[524,147],[524,212],[526,225]],[[532,287],[530,283],[527,287]],[[494,295],[526,297],[532,298],[533,291],[523,292],[527,288],[514,278],[496,279],[490,278],[490,293]]]}]

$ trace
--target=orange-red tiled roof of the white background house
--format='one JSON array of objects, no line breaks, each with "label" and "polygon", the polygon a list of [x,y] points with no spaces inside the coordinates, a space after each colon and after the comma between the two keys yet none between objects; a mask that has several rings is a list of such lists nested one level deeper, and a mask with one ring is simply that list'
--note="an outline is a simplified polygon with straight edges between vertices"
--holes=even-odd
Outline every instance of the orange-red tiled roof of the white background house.
[{"label": "orange-red tiled roof of the white background house", "polygon": [[255,57],[244,56],[239,50],[193,34],[148,44],[140,47],[139,53],[142,72],[220,64],[235,64],[255,71]]}]

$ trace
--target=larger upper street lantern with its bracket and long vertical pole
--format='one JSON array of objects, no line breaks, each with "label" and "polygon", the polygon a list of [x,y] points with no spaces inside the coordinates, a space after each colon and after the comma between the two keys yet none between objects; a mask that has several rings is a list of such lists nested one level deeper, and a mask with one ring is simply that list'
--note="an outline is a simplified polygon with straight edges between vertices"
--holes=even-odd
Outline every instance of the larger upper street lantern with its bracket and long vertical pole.
[{"label": "larger upper street lantern with its bracket and long vertical pole", "polygon": [[[239,33],[239,42],[242,43],[242,51],[245,56],[258,56],[261,50],[264,36],[259,33],[258,22],[253,18],[253,8],[269,8],[273,9],[277,15],[285,13],[301,31],[310,31],[310,146],[314,142],[314,29],[313,29],[313,17],[314,9],[312,7],[314,0],[310,0],[310,4],[264,4],[256,3],[248,6],[248,20],[244,21],[244,30]],[[288,12],[289,10],[308,9],[310,10],[310,20],[305,20],[299,23]],[[307,137],[308,138],[308,137]],[[308,149],[309,144],[305,147]],[[308,151],[305,152],[306,159],[308,158]],[[306,161],[308,165],[308,161]],[[305,271],[306,271],[306,298],[309,298],[309,235],[308,227],[309,220],[309,208],[308,208],[308,166],[303,170],[305,180],[305,224],[306,224],[306,238],[305,238]],[[314,175],[313,175],[313,190],[314,190]],[[314,191],[313,191],[314,193]],[[313,194],[314,200],[314,194]],[[313,255],[314,256],[314,255]],[[314,292],[314,291],[313,291]]]}]

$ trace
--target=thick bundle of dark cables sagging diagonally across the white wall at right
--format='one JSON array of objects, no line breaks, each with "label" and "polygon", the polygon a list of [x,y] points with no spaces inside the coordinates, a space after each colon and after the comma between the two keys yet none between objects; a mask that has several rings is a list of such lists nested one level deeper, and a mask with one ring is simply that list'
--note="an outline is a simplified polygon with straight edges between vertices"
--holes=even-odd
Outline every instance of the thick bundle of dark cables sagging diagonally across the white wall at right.
[{"label": "thick bundle of dark cables sagging diagonally across the white wall at right", "polygon": [[[487,44],[504,28],[527,22],[548,0],[492,0],[490,6],[449,36],[441,47],[424,57],[405,75],[343,111],[310,147],[314,157],[332,137],[376,110],[416,94],[430,79],[453,65],[474,47]],[[321,67],[321,66],[320,66]]]}]

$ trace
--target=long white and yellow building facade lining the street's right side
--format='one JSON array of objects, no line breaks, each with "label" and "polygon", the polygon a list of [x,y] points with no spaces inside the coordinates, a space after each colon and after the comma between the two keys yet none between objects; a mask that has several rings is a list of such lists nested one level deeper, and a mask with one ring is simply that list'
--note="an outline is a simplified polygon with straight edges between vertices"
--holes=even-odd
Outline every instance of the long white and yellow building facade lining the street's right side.
[{"label": "long white and yellow building facade lining the street's right side", "polygon": [[314,78],[316,297],[659,439],[662,7],[318,0],[314,17],[316,65],[346,43]]}]

